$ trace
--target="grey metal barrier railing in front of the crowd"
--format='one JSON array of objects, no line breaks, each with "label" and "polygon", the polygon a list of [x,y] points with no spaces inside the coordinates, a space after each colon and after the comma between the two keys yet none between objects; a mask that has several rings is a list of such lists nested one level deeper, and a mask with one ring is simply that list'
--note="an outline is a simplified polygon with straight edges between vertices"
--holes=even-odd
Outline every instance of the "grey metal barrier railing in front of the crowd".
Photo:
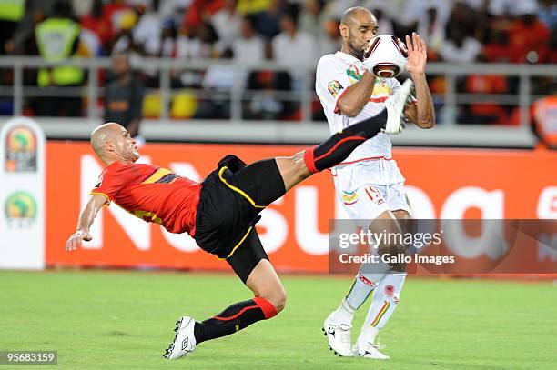
[{"label": "grey metal barrier railing in front of the crowd", "polygon": [[[24,113],[25,99],[44,95],[76,96],[81,95],[86,102],[86,122],[80,118],[42,119],[45,123],[46,135],[59,138],[86,138],[90,128],[101,120],[102,112],[96,102],[103,95],[103,87],[99,84],[99,72],[110,67],[109,58],[73,59],[65,65],[77,65],[87,72],[86,83],[82,87],[56,87],[41,89],[32,85],[24,85],[24,71],[38,69],[55,64],[46,63],[36,56],[2,56],[0,69],[11,70],[11,85],[0,85],[0,97],[4,96],[12,105],[13,115]],[[155,76],[157,87],[147,89],[149,95],[157,99],[157,117],[147,119],[143,125],[143,134],[147,139],[155,140],[192,140],[217,142],[264,142],[264,143],[311,143],[319,141],[327,135],[327,127],[322,122],[313,121],[312,105],[316,104],[313,79],[315,65],[279,65],[264,63],[260,65],[236,65],[223,60],[180,60],[167,58],[138,58],[132,60],[135,69]],[[235,72],[236,81],[228,90],[219,90],[219,99],[229,102],[228,119],[172,119],[171,102],[175,96],[187,91],[196,98],[215,98],[212,90],[205,88],[173,88],[172,74],[176,71],[206,71],[212,66],[226,66]],[[287,71],[296,76],[297,84],[294,91],[273,91],[273,98],[299,104],[299,121],[250,120],[244,117],[243,102],[258,96],[261,91],[246,90],[243,79],[248,71]],[[397,137],[394,142],[400,145],[465,145],[465,146],[503,146],[532,147],[536,138],[530,128],[530,106],[543,95],[532,95],[533,81],[557,75],[555,65],[506,65],[506,64],[444,64],[430,63],[428,75],[442,76],[444,93],[434,94],[434,103],[439,108],[439,128],[434,131],[420,132],[408,130],[408,135]],[[517,94],[462,94],[457,92],[459,79],[466,75],[504,75],[516,80]],[[473,125],[459,122],[459,105],[497,104],[517,106],[519,122],[517,126],[505,125]],[[0,123],[2,119],[0,118]],[[205,125],[204,125],[205,124]],[[207,125],[208,124],[208,125]],[[458,125],[467,124],[467,125]],[[468,125],[471,124],[471,125]],[[257,130],[254,130],[257,125]],[[218,128],[210,130],[203,126]],[[232,137],[232,139],[231,139]]]}]

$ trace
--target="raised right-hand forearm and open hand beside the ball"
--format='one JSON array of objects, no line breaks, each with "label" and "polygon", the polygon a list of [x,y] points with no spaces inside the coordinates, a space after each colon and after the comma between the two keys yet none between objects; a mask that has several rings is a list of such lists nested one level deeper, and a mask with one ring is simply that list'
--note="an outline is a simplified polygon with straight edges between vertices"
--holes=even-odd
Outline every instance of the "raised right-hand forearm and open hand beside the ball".
[{"label": "raised right-hand forearm and open hand beside the ball", "polygon": [[425,75],[427,60],[427,49],[420,35],[412,34],[406,36],[406,47],[408,48],[408,64],[406,69],[410,72],[410,78],[416,88],[416,104],[407,105],[404,115],[420,128],[431,128],[435,125],[435,110],[431,98],[430,87]]}]

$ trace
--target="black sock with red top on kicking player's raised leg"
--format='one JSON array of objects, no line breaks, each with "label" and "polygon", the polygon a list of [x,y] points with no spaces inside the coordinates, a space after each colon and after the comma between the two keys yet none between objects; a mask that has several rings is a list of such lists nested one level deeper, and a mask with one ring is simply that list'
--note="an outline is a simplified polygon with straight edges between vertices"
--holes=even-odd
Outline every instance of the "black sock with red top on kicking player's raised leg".
[{"label": "black sock with red top on kicking player's raised leg", "polygon": [[379,134],[387,123],[387,109],[354,125],[349,125],[332,135],[320,145],[314,146],[304,154],[304,162],[309,172],[316,173],[339,165],[364,141]]}]

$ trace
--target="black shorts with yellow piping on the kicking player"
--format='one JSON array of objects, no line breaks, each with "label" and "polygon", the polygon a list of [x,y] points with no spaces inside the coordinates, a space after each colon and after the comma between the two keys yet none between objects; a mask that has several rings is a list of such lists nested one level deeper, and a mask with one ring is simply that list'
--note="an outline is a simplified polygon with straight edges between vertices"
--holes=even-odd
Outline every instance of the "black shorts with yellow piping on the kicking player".
[{"label": "black shorts with yellow piping on the kicking player", "polygon": [[197,245],[227,259],[246,282],[262,259],[268,259],[255,230],[259,213],[284,195],[284,183],[274,159],[245,166],[236,156],[219,162],[201,185],[197,205]]}]

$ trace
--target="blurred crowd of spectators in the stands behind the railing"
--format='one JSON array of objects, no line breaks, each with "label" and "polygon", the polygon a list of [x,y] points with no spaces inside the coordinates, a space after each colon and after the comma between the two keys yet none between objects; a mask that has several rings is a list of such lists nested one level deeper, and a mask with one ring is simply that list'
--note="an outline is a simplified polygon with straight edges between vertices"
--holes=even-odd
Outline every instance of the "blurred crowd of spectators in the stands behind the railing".
[{"label": "blurred crowd of spectators in the stands behind the railing", "polygon": [[[16,12],[7,3],[21,3]],[[197,59],[231,59],[240,65],[266,61],[283,65],[285,72],[256,70],[245,76],[245,88],[254,91],[297,91],[299,80],[292,70],[299,65],[317,65],[320,55],[334,53],[341,44],[339,19],[353,5],[369,8],[379,22],[380,34],[403,37],[417,31],[429,45],[429,61],[448,63],[557,63],[556,0],[0,0],[0,53],[41,55],[54,60],[51,40],[42,37],[46,23],[71,30],[63,50],[55,55],[98,57],[126,52],[132,58],[157,56],[185,62]],[[51,22],[50,26],[53,26]],[[51,55],[48,55],[51,53]],[[187,64],[185,64],[187,66]],[[138,78],[148,88],[157,88],[157,71],[140,70]],[[174,71],[171,87],[226,91],[235,84],[234,71],[226,66],[206,71]],[[101,74],[104,81],[110,74]],[[10,74],[0,84],[10,85]],[[552,95],[555,77],[532,78],[532,95]],[[86,83],[86,75],[68,72],[65,77],[41,76],[26,71],[25,85],[72,85]],[[442,75],[430,76],[433,94],[446,88]],[[518,77],[467,75],[459,78],[457,92],[469,94],[516,94]],[[258,95],[245,109],[247,119],[299,119],[299,105],[271,95]],[[262,97],[261,97],[262,96]],[[184,100],[187,101],[187,100]],[[313,118],[319,119],[319,103]],[[75,107],[75,105],[73,105]],[[82,115],[62,109],[59,115]],[[146,95],[143,113],[148,109]],[[146,108],[147,107],[147,108]],[[470,105],[459,121],[513,125],[515,107]],[[27,115],[52,115],[31,101]],[[227,118],[229,106],[197,103],[193,111],[176,118]]]}]

